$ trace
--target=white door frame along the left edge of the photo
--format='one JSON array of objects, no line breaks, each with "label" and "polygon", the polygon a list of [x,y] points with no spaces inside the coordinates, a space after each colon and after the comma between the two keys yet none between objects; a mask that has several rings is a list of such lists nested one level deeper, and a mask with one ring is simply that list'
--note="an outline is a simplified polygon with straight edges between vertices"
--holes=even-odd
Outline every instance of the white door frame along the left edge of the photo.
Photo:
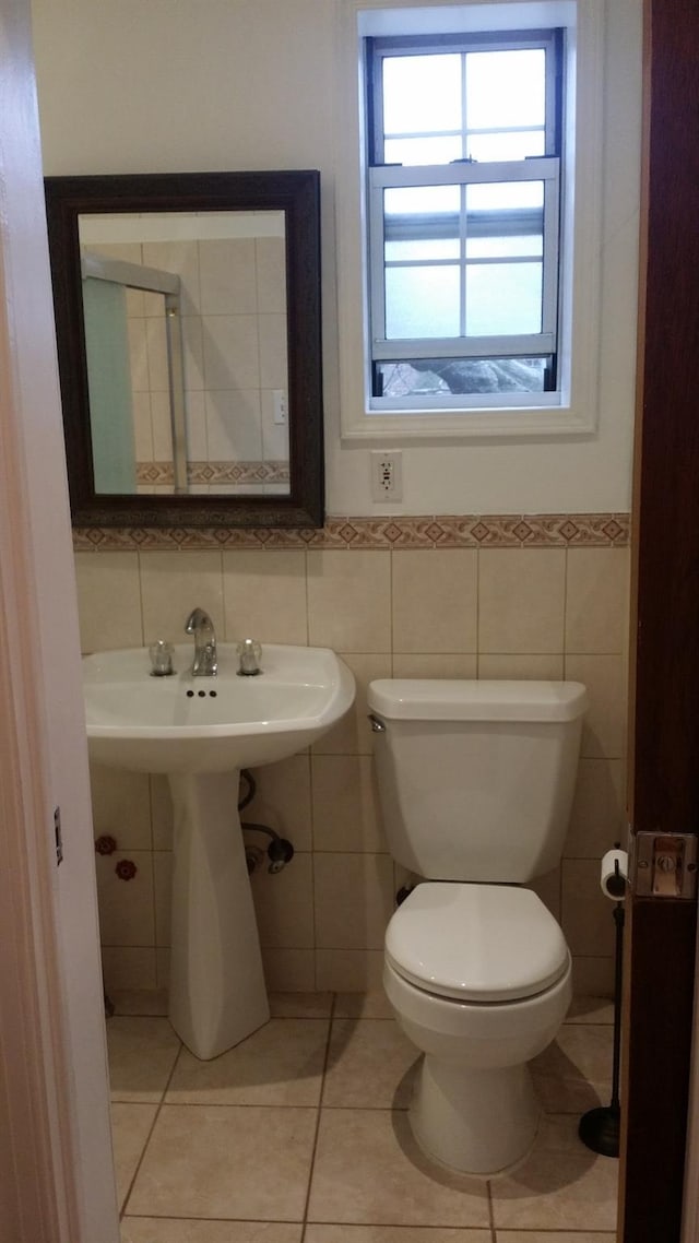
[{"label": "white door frame along the left edge of the photo", "polygon": [[0,1237],[118,1243],[30,0],[0,62]]}]

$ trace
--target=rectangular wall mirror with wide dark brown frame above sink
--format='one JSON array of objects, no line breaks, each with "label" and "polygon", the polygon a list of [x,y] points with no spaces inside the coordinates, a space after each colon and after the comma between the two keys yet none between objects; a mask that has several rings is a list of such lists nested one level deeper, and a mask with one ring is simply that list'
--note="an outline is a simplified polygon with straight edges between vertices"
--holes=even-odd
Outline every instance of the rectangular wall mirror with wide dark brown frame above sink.
[{"label": "rectangular wall mirror with wide dark brown frame above sink", "polygon": [[46,179],[75,526],[322,526],[320,174]]}]

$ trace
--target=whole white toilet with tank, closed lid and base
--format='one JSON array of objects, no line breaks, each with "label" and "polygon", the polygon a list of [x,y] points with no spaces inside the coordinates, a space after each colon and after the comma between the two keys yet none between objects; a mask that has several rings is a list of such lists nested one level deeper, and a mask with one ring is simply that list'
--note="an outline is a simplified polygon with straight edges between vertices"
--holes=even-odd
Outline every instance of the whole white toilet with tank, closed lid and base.
[{"label": "whole white toilet with tank, closed lid and base", "polygon": [[557,866],[573,796],[580,682],[383,679],[369,685],[393,858],[424,878],[386,932],[384,987],[424,1060],[420,1147],[495,1173],[539,1122],[527,1062],[571,1001],[571,956],[530,889]]}]

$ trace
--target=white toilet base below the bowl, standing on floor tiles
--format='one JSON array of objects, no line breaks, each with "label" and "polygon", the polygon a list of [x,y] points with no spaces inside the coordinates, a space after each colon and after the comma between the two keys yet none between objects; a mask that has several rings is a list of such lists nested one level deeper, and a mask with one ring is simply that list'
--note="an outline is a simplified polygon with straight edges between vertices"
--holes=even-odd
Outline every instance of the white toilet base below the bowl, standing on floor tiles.
[{"label": "white toilet base below the bowl, standing on floor tiles", "polygon": [[526,1063],[464,1069],[425,1054],[409,1110],[419,1146],[459,1173],[499,1173],[526,1156],[541,1108]]}]

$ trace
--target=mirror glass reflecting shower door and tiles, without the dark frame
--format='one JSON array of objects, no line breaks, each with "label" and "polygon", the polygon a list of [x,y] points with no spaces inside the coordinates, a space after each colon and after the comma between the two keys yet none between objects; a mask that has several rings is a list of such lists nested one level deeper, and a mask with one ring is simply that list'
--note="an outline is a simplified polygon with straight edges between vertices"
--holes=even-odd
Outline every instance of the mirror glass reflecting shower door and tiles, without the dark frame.
[{"label": "mirror glass reflecting shower door and tiles, without the dark frame", "polygon": [[81,214],[96,493],[289,495],[284,211]]}]

